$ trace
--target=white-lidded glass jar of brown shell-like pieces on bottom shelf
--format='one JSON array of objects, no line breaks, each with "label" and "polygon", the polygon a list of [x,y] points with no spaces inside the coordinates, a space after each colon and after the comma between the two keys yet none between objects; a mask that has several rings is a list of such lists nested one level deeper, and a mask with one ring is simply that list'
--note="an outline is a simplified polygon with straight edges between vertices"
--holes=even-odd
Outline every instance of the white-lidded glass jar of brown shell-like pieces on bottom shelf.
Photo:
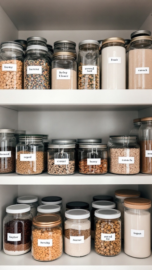
[{"label": "white-lidded glass jar of brown shell-like pieces on bottom shelf", "polygon": [[[99,255],[115,256],[121,252],[120,211],[98,209],[95,215],[94,248]],[[103,248],[104,247],[104,248]]]}]

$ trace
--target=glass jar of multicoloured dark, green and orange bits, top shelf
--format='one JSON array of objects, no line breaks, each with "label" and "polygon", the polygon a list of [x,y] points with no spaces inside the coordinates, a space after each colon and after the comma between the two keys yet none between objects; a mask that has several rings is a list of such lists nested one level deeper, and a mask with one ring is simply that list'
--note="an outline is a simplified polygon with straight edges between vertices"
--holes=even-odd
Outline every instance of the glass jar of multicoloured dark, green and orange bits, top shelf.
[{"label": "glass jar of multicoloured dark, green and orange bits, top shelf", "polygon": [[50,89],[50,66],[47,47],[27,46],[27,56],[24,60],[24,89]]}]

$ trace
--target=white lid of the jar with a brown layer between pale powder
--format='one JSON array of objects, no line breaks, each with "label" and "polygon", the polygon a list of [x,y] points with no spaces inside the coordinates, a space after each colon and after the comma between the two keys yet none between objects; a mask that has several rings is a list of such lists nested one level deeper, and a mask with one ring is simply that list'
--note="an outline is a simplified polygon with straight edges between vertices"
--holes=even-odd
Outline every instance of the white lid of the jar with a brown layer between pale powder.
[{"label": "white lid of the jar with a brown layer between pale powder", "polygon": [[70,209],[65,211],[65,217],[71,219],[85,219],[90,217],[90,212],[84,209]]}]

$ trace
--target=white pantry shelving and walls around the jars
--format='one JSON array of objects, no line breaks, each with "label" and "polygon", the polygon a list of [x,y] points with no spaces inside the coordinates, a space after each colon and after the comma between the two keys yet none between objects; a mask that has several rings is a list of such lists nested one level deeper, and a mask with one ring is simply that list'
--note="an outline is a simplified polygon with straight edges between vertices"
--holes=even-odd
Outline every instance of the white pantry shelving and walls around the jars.
[{"label": "white pantry shelving and walls around the jars", "polygon": [[[41,36],[53,45],[57,40],[122,37],[129,39],[138,29],[152,32],[151,0],[0,0],[0,41]],[[60,7],[60,8],[59,8]],[[68,8],[67,8],[68,7]],[[138,8],[137,8],[138,7]],[[87,15],[86,15],[87,14]],[[82,18],[83,17],[83,18]],[[41,18],[41,19],[40,19]],[[133,119],[152,116],[152,90],[0,90],[0,128],[26,130],[27,133],[49,134],[48,139],[102,138],[128,135]],[[152,176],[148,174],[102,176],[20,176],[0,175],[0,268],[3,269],[128,269],[152,268],[152,255],[145,259],[132,258],[122,249],[118,256],[106,258],[92,250],[82,258],[66,254],[52,262],[38,262],[31,253],[9,256],[2,249],[2,220],[6,206],[15,204],[22,195],[48,195],[68,201],[90,203],[94,195],[131,188],[141,191],[141,197],[152,200]]]}]

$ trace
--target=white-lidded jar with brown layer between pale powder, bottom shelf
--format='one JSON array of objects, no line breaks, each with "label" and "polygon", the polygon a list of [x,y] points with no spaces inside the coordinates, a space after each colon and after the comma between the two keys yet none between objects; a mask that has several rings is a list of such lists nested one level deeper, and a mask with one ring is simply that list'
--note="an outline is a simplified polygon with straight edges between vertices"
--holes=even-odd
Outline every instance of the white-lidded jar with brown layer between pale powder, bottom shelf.
[{"label": "white-lidded jar with brown layer between pale powder, bottom shelf", "polygon": [[64,251],[73,257],[82,257],[91,251],[90,212],[73,209],[65,212]]}]

